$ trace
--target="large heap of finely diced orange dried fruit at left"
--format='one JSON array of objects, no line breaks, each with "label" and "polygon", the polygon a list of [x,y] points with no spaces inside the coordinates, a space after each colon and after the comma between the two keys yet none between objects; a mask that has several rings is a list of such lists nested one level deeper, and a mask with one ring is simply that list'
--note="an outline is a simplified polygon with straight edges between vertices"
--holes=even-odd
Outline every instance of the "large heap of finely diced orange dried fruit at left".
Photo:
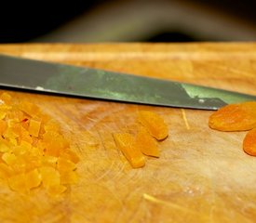
[{"label": "large heap of finely diced orange dried fruit at left", "polygon": [[58,195],[78,180],[79,162],[60,125],[34,103],[0,96],[0,177],[11,190]]}]

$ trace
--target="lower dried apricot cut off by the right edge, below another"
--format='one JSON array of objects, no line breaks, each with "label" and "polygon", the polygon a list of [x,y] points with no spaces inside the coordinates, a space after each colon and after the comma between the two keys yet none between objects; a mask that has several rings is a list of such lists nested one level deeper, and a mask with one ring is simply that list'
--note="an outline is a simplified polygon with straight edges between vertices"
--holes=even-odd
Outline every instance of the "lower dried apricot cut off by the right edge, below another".
[{"label": "lower dried apricot cut off by the right edge, below another", "polygon": [[256,128],[251,129],[244,138],[243,150],[249,155],[256,156]]}]

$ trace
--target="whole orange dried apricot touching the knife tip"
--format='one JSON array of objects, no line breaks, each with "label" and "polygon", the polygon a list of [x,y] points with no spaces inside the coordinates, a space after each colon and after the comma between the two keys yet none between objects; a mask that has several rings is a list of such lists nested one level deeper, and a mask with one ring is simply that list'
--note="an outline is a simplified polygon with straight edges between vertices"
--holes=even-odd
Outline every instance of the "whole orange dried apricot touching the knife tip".
[{"label": "whole orange dried apricot touching the knife tip", "polygon": [[209,116],[209,127],[220,131],[244,131],[256,127],[256,101],[222,107]]}]

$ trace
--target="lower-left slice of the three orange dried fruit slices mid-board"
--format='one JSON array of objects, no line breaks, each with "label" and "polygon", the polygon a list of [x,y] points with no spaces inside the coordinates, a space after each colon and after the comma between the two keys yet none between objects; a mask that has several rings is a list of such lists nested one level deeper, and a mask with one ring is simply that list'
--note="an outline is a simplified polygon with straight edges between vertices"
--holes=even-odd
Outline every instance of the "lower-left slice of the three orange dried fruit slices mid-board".
[{"label": "lower-left slice of the three orange dried fruit slices mid-board", "polygon": [[134,168],[145,165],[145,159],[140,149],[135,146],[135,138],[128,133],[114,134],[117,148],[123,152],[129,164]]}]

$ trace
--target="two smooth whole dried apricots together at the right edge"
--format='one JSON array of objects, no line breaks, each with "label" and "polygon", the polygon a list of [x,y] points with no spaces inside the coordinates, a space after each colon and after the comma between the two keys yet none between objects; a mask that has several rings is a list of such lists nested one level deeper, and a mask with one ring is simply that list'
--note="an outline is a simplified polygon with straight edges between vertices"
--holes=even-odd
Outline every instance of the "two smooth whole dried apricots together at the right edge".
[{"label": "two smooth whole dried apricots together at the right edge", "polygon": [[209,116],[209,127],[219,131],[248,131],[243,150],[256,156],[256,101],[230,104]]}]

